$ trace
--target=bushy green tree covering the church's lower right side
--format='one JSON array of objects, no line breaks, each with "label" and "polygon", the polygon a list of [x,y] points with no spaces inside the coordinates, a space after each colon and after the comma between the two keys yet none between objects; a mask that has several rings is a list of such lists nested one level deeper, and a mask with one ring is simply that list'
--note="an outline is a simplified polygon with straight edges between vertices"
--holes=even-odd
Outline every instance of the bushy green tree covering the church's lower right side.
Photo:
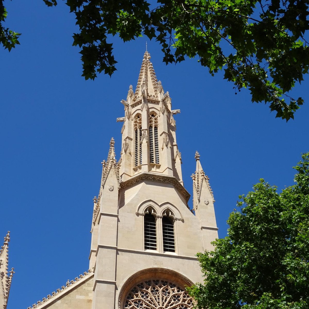
[{"label": "bushy green tree covering the church's lower right side", "polygon": [[309,307],[309,152],[296,184],[277,193],[263,179],[240,196],[228,236],[199,253],[204,284],[189,288],[198,308]]}]

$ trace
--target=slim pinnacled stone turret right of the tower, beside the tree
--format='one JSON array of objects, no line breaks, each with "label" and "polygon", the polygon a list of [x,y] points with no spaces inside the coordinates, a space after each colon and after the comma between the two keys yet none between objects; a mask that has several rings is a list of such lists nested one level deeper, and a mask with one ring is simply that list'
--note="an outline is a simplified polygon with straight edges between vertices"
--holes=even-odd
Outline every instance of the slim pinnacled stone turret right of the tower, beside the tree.
[{"label": "slim pinnacled stone turret right of the tower, beside the tree", "polygon": [[[212,235],[213,239],[218,238],[218,227],[214,213],[214,194],[209,184],[209,178],[205,175],[200,162],[200,154],[195,152],[196,171],[192,174],[193,180],[193,210],[201,222],[201,230],[205,236],[204,249],[211,250],[206,235]],[[206,241],[205,241],[206,240]],[[208,248],[209,247],[209,248]]]}]

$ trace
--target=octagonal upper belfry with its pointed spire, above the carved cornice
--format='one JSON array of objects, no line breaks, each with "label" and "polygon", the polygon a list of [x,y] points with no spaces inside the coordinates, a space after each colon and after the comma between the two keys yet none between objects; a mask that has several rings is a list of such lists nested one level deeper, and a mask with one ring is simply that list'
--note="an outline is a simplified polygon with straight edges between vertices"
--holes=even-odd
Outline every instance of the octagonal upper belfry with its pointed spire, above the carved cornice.
[{"label": "octagonal upper belfry with its pointed spire, above the carved cornice", "polygon": [[174,115],[179,109],[171,109],[171,97],[164,93],[161,81],[157,81],[146,51],[138,77],[136,91],[130,85],[127,99],[121,100],[124,117],[121,128],[122,147],[117,167],[123,182],[138,173],[156,173],[174,176],[183,185],[181,153],[176,142]]}]

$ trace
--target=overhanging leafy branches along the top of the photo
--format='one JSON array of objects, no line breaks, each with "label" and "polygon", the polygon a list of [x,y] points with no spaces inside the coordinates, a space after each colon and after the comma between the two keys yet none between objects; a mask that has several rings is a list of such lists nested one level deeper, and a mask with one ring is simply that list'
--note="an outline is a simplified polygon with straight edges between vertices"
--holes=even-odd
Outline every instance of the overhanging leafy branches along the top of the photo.
[{"label": "overhanging leafy branches along the top of the photo", "polygon": [[[56,0],[43,0],[48,6]],[[124,41],[155,38],[166,63],[197,57],[210,74],[224,78],[240,91],[249,88],[252,102],[269,104],[276,117],[288,121],[303,104],[288,92],[308,73],[305,32],[309,0],[66,0],[79,32],[73,45],[81,48],[83,76],[111,75],[116,61],[110,36]],[[0,0],[0,35],[9,50],[18,33],[4,29]],[[237,92],[235,92],[237,94]]]}]

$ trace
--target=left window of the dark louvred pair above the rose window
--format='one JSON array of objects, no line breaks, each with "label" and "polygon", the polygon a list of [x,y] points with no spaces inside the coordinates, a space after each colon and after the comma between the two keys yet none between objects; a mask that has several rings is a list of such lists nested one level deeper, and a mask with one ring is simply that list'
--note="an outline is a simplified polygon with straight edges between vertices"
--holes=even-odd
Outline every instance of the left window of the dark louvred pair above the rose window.
[{"label": "left window of the dark louvred pair above the rose window", "polygon": [[145,210],[144,216],[144,248],[157,250],[156,214],[152,207]]}]

